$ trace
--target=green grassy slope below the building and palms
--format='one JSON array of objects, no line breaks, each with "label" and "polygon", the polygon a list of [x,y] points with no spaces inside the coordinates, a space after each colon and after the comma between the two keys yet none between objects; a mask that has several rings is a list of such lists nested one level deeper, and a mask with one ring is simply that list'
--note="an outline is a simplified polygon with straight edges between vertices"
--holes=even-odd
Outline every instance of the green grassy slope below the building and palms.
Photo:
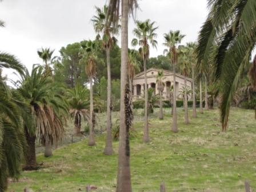
[{"label": "green grassy slope below the building and palms", "polygon": [[[165,118],[149,119],[149,143],[143,143],[141,111],[135,111],[138,138],[130,141],[131,180],[133,191],[245,191],[245,179],[256,189],[256,127],[253,110],[231,109],[226,133],[221,132],[217,109],[198,113],[184,125],[183,111],[178,109],[178,133],[172,133],[172,119],[166,109]],[[98,127],[105,129],[102,115]],[[105,115],[105,117],[103,117]],[[113,125],[118,113],[113,114]],[[155,110],[157,115],[157,109]],[[72,126],[69,127],[72,131]],[[99,129],[99,128],[98,128]],[[87,138],[65,144],[54,150],[54,156],[37,156],[42,163],[36,171],[25,171],[19,182],[10,183],[8,191],[115,191],[117,182],[118,142],[115,154],[103,155],[105,133],[96,137],[97,145],[87,146]]]}]

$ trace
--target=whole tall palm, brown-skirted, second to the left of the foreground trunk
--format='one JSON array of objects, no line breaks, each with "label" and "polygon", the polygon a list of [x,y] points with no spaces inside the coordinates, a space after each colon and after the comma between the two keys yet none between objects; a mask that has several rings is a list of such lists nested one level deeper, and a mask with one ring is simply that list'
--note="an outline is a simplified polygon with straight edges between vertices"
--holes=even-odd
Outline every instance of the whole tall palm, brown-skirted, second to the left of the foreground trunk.
[{"label": "whole tall palm, brown-skirted, second to the left of the foreground trunk", "polygon": [[94,112],[93,112],[93,77],[96,73],[96,62],[102,62],[97,56],[98,45],[96,41],[87,41],[81,53],[80,63],[85,65],[86,74],[90,79],[90,131],[89,131],[89,146],[96,145],[94,139]]}]

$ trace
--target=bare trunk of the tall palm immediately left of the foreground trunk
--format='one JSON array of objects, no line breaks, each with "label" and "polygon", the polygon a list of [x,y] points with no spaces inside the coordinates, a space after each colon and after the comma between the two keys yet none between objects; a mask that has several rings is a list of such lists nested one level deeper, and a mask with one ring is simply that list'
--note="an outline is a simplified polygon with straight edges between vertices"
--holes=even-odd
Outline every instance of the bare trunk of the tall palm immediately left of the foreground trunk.
[{"label": "bare trunk of the tall palm immediately left of the foreground trunk", "polygon": [[112,122],[111,122],[111,69],[110,69],[110,49],[106,49],[107,55],[107,135],[104,154],[113,154],[112,144]]}]

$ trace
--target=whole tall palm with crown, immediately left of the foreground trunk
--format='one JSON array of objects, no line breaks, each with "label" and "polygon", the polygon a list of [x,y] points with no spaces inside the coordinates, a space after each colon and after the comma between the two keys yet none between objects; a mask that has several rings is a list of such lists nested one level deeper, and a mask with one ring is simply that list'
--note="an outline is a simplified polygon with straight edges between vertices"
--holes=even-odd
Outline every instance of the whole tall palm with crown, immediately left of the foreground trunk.
[{"label": "whole tall palm with crown, immediately left of the foreground trunk", "polygon": [[103,7],[103,9],[99,9],[99,7],[95,7],[97,11],[97,15],[93,16],[91,22],[93,22],[94,30],[97,33],[103,33],[102,36],[102,47],[106,50],[107,57],[107,135],[106,135],[106,145],[104,149],[105,155],[113,154],[113,144],[112,144],[112,122],[111,122],[111,67],[110,67],[110,49],[112,47],[112,43],[117,40],[114,37],[111,37],[110,34],[118,33],[118,26],[111,27],[109,20],[107,18],[107,5]]}]

